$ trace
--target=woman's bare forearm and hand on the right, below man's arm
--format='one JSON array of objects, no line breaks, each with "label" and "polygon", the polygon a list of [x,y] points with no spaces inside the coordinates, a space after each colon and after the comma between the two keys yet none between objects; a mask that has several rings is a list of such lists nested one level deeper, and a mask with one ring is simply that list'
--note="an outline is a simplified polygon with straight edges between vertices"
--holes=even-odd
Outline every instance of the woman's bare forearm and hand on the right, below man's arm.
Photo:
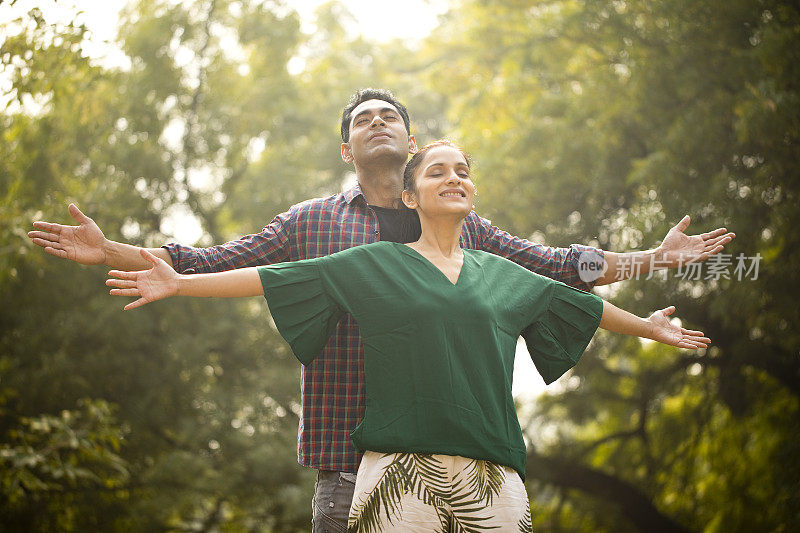
[{"label": "woman's bare forearm and hand on the right, below man's arm", "polygon": [[711,339],[704,336],[702,331],[694,331],[672,324],[667,317],[674,312],[675,306],[670,306],[656,311],[647,318],[640,318],[603,301],[600,327],[623,335],[653,339],[678,348],[692,350],[706,348]]}]

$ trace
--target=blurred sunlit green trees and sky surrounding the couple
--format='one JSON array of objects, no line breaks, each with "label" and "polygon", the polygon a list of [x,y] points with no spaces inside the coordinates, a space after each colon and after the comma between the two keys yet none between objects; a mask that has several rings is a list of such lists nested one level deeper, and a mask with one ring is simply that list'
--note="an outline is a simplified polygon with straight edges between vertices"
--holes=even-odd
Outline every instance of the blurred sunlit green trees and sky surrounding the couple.
[{"label": "blurred sunlit green trees and sky surrounding the couple", "polygon": [[69,202],[136,245],[259,231],[352,183],[365,86],[463,145],[516,235],[737,234],[716,268],[600,292],[712,348],[600,332],[553,386],[518,377],[534,527],[800,530],[800,10],[770,0],[0,2],[0,528],[309,529],[263,300],[123,313],[107,269],[26,232]]}]

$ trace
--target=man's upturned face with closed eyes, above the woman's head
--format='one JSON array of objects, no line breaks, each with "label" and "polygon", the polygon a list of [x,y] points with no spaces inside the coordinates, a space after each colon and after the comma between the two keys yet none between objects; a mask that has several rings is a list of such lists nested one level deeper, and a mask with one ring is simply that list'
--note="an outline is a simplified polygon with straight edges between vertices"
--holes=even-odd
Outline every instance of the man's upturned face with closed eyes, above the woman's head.
[{"label": "man's upturned face with closed eyes, above the woman's head", "polygon": [[350,140],[342,143],[342,159],[356,165],[382,163],[404,165],[416,150],[414,137],[406,132],[403,117],[383,100],[367,100],[353,109]]}]

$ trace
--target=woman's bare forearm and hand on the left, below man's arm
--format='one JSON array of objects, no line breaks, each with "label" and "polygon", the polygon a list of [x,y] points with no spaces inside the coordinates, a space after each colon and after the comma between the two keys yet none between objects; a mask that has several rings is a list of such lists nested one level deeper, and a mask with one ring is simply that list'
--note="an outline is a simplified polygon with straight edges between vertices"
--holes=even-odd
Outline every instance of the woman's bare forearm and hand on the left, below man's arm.
[{"label": "woman's bare forearm and hand on the left, below man's arm", "polygon": [[114,296],[138,296],[139,299],[125,306],[134,309],[146,303],[170,296],[196,296],[204,298],[238,298],[264,294],[261,278],[256,268],[241,268],[215,274],[178,274],[166,262],[147,250],[142,257],[152,263],[150,270],[123,272],[112,270],[113,276],[106,281]]}]

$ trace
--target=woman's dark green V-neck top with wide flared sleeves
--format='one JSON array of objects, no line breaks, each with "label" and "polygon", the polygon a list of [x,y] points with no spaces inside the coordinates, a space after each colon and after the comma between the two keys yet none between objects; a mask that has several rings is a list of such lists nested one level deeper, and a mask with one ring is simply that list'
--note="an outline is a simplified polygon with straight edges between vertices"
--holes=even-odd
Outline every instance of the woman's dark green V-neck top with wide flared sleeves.
[{"label": "woman's dark green V-neck top with wide flared sleeves", "polygon": [[417,251],[377,242],[259,267],[278,331],[311,362],[351,313],[364,345],[361,451],[461,455],[525,478],[511,381],[517,339],[551,383],[578,362],[600,298],[501,257],[464,250],[453,284]]}]

